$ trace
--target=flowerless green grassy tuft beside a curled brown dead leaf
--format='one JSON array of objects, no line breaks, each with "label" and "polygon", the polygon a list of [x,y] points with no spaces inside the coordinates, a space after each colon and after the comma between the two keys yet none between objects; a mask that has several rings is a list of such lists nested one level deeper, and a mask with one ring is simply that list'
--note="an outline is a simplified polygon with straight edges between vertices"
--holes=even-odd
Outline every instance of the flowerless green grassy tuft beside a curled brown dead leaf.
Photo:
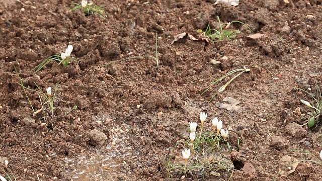
[{"label": "flowerless green grassy tuft beside a curled brown dead leaf", "polygon": [[[245,23],[240,22],[240,21],[232,21],[232,22],[228,23],[225,28],[223,28],[223,24],[221,24],[218,16],[217,16],[217,20],[219,23],[220,30],[210,28],[210,25],[208,24],[205,31],[197,30],[197,32],[200,33],[200,36],[207,37],[207,39],[212,42],[220,42],[220,41],[224,41],[224,40],[229,41],[229,40],[233,40],[234,38],[236,38],[236,35],[240,33],[239,30],[227,30],[229,28],[230,24],[231,23],[240,23],[240,24],[245,25]],[[252,29],[249,26],[247,26],[247,28],[249,30],[251,30],[251,32],[253,33]]]}]

